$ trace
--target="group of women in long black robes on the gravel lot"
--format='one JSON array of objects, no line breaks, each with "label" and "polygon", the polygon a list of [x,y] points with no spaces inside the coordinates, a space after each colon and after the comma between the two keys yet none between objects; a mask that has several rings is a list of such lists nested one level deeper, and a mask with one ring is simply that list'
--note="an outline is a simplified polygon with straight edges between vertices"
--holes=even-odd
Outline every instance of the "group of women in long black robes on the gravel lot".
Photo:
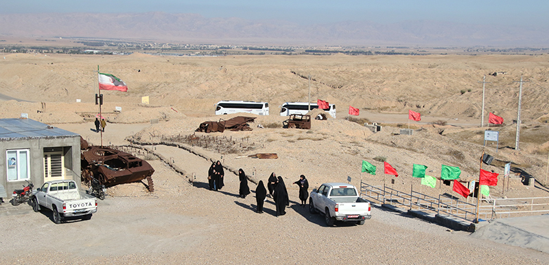
[{"label": "group of women in long black robes on the gravel lot", "polygon": [[[220,161],[217,161],[211,165],[208,175],[210,189],[218,190],[223,187],[224,170]],[[238,178],[240,180],[238,195],[240,198],[246,198],[246,196],[250,194],[250,187],[248,187],[248,178],[242,168],[238,170]],[[307,198],[309,198],[309,192],[307,191],[307,189],[309,189],[309,182],[304,175],[301,175],[299,181],[294,182],[294,184],[299,185],[299,199],[301,200],[301,206],[305,206],[307,203]],[[277,216],[285,215],[285,208],[290,205],[290,198],[288,198],[288,190],[286,189],[283,178],[281,176],[277,177],[274,172],[272,172],[268,178],[267,187],[269,192],[268,194],[263,181],[259,181],[259,183],[257,183],[257,187],[255,189],[257,213],[263,214],[263,205],[269,195],[274,200],[274,205],[277,208]]]}]

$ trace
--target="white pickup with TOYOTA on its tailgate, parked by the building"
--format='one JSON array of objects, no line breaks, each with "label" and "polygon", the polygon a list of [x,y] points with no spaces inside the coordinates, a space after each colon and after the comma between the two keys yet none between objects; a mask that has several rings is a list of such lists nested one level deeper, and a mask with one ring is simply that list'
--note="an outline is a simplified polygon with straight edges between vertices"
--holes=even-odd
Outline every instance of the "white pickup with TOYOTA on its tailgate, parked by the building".
[{"label": "white pickup with TOYOTA on its tailgate, parked by the building", "polygon": [[42,207],[54,214],[54,222],[60,224],[67,217],[89,220],[97,212],[97,198],[76,187],[74,181],[48,181],[32,192],[31,205],[34,211]]}]

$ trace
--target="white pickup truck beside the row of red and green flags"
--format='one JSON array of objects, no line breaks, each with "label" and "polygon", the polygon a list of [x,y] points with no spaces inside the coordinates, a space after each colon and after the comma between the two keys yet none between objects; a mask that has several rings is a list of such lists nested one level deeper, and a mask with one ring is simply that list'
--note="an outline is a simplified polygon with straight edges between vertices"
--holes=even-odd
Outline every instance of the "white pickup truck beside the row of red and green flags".
[{"label": "white pickup truck beside the row of red and green flags", "polygon": [[370,203],[358,196],[355,186],[346,183],[324,183],[309,194],[309,211],[325,215],[331,227],[336,220],[364,224],[370,219]]}]

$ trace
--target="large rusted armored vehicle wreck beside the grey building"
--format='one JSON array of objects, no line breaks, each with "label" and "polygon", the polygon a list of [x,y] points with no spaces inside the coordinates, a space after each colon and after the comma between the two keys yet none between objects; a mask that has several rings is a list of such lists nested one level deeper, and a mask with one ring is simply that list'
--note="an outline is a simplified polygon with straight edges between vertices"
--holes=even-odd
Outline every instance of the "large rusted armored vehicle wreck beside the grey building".
[{"label": "large rusted armored vehicle wreck beside the grey building", "polygon": [[81,150],[82,181],[91,183],[95,178],[105,187],[133,183],[147,179],[148,189],[154,191],[152,166],[132,154],[113,148],[89,146]]}]

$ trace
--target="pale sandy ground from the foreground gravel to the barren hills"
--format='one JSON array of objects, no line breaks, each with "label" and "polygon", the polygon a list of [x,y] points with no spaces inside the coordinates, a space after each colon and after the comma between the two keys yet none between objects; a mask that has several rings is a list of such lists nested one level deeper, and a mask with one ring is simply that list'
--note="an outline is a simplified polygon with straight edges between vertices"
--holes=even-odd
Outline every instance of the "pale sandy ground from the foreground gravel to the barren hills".
[{"label": "pale sandy ground from the foreground gravel to the barren hills", "polygon": [[[349,176],[355,185],[361,178],[382,185],[393,178],[383,174],[382,158],[399,172],[394,187],[406,191],[410,185],[419,186],[419,180],[411,176],[413,163],[427,165],[432,176],[440,175],[441,164],[459,166],[463,181],[474,180],[482,150],[496,158],[493,165],[484,165],[486,170],[502,172],[502,165],[512,161],[513,168],[543,180],[549,150],[546,92],[542,89],[546,80],[540,79],[545,73],[545,57],[434,57],[202,60],[136,54],[121,58],[122,62],[112,60],[114,57],[7,56],[0,65],[0,88],[12,89],[5,95],[31,102],[6,98],[8,101],[0,102],[2,117],[28,113],[32,119],[79,133],[98,145],[101,134],[93,131],[92,122],[97,106],[90,97],[94,81],[83,77],[99,63],[108,65],[108,71],[135,82],[128,93],[105,92],[102,113],[108,124],[104,145],[127,144],[126,140],[150,145],[147,148],[170,158],[187,174],[181,176],[161,161],[152,160],[156,170],[153,194],[140,183],[109,188],[98,213],[86,222],[55,225],[49,212],[35,214],[30,206],[19,205],[19,214],[2,216],[7,225],[0,232],[0,240],[5,240],[0,242],[0,253],[7,264],[36,257],[43,257],[47,264],[305,264],[334,257],[341,262],[375,264],[546,264],[546,254],[479,240],[469,233],[449,231],[383,209],[374,208],[373,218],[363,226],[325,227],[321,216],[296,205],[297,189],[291,183],[300,174],[307,176],[310,189],[325,182],[346,181]],[[496,153],[495,143],[482,147],[485,128],[478,128],[479,91],[471,86],[478,80],[471,76],[509,67],[523,69],[539,83],[524,95],[528,103],[521,150],[512,148],[515,127],[509,122],[495,128],[501,137]],[[307,98],[306,80],[296,78],[290,70],[316,75],[312,91],[316,97],[338,104],[338,119],[314,120],[311,130],[281,128],[285,117],[277,115],[277,106]],[[514,93],[511,87],[518,73],[509,71],[509,76],[491,80],[501,89],[489,100],[490,108],[498,108],[506,121],[513,119],[516,108],[503,95]],[[471,93],[465,89],[460,94],[463,87],[471,87]],[[143,95],[152,96],[150,105],[139,103]],[[75,102],[77,98],[82,102]],[[269,101],[271,115],[254,116],[257,119],[252,131],[194,133],[201,122],[220,119],[212,113],[213,104],[222,99]],[[361,108],[360,117],[387,123],[382,132],[372,133],[362,124],[345,120],[349,104]],[[116,106],[121,106],[121,113],[114,112]],[[400,135],[400,128],[407,128],[410,108],[421,110],[423,120],[410,123],[413,135]],[[430,124],[440,119],[447,125]],[[487,121],[487,115],[484,119]],[[259,124],[265,128],[257,128]],[[265,181],[271,172],[283,176],[292,200],[288,214],[275,217],[272,203],[266,204],[265,214],[256,214],[253,194],[237,198],[237,176],[230,172],[221,192],[207,190],[206,159],[161,145],[182,143],[181,137],[188,135],[209,143],[193,148],[230,168],[243,168],[250,178]],[[261,152],[275,152],[279,159],[242,158]],[[361,174],[362,160],[377,166],[375,176]],[[195,176],[193,186],[189,178]],[[511,181],[505,194],[500,181],[491,196],[547,196],[548,190],[539,184],[528,187],[519,178]],[[250,188],[255,190],[255,185],[250,183]],[[454,194],[444,185],[441,189],[419,189],[433,196],[439,192]],[[8,241],[20,238],[25,231],[34,243],[32,251],[27,240]]]}]

